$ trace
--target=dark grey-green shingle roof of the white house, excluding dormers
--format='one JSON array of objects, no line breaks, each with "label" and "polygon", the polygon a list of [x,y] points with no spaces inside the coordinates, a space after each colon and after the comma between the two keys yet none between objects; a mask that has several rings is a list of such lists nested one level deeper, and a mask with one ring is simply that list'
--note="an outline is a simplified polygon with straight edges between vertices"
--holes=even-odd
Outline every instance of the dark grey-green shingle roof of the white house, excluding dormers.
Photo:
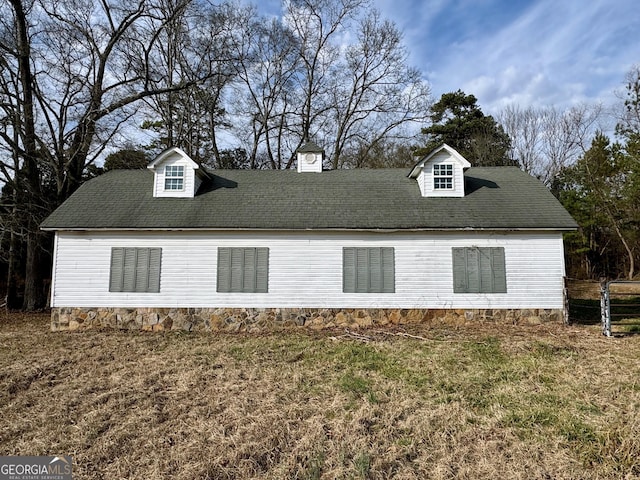
[{"label": "dark grey-green shingle roof of the white house, excluding dormers", "polygon": [[464,198],[424,198],[406,169],[217,170],[194,198],[153,198],[153,173],[108,172],[45,229],[558,229],[575,221],[515,167],[470,168]]}]

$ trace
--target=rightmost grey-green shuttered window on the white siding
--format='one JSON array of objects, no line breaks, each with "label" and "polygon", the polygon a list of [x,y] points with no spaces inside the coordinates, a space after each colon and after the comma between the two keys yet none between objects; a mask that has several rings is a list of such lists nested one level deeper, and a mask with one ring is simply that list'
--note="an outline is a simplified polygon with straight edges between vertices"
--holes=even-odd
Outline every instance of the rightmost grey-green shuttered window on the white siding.
[{"label": "rightmost grey-green shuttered window on the white siding", "polygon": [[507,293],[503,247],[453,248],[454,293]]}]

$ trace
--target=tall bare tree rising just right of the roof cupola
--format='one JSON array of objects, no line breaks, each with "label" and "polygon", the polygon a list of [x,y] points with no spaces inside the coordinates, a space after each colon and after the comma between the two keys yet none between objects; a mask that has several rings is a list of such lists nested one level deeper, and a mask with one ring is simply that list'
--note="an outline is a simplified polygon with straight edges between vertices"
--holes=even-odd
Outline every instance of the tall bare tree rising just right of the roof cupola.
[{"label": "tall bare tree rising just right of the roof cupola", "polygon": [[[407,52],[397,27],[373,10],[358,31],[358,41],[346,53],[333,77],[333,168],[341,165],[346,148],[369,149],[399,127],[426,119],[430,92],[420,72],[407,65]],[[365,157],[366,151],[361,152]]]}]

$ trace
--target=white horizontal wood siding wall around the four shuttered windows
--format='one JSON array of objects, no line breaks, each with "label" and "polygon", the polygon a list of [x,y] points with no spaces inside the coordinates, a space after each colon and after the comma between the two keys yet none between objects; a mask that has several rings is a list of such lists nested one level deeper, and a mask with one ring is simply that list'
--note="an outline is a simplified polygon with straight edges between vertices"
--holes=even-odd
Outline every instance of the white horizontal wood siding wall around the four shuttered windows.
[{"label": "white horizontal wood siding wall around the four shuttered windows", "polygon": [[[342,293],[342,247],[395,248],[395,293]],[[454,294],[452,247],[502,246],[506,294]],[[112,247],[161,247],[160,293],[110,293]],[[218,247],[268,247],[269,292],[216,293]],[[58,232],[54,307],[562,308],[560,233]]]}]

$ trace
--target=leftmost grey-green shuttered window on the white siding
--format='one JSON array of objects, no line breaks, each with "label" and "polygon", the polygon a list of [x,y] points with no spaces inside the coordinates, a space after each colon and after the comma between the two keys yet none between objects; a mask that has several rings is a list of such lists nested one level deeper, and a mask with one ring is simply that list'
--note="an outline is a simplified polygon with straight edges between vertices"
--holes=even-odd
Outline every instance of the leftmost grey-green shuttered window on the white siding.
[{"label": "leftmost grey-green shuttered window on the white siding", "polygon": [[161,248],[112,248],[109,291],[159,292],[161,257]]}]

